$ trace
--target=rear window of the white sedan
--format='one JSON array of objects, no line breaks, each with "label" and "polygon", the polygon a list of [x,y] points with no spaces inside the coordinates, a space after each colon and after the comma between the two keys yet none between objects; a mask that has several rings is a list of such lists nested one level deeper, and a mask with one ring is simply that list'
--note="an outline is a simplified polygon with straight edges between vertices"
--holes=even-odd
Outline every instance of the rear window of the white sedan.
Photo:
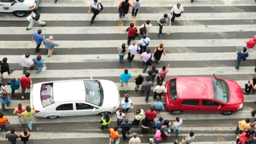
[{"label": "rear window of the white sedan", "polygon": [[43,107],[47,107],[54,103],[53,83],[42,84],[41,86],[41,102]]}]

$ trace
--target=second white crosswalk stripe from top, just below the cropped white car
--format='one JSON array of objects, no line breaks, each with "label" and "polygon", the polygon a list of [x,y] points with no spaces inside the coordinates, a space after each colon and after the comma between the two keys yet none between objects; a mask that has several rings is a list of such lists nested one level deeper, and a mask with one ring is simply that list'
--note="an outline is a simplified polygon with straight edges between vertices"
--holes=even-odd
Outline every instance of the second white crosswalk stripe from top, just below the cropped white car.
[{"label": "second white crosswalk stripe from top, just below the cropped white car", "polygon": [[[168,13],[168,12],[167,12]],[[136,16],[137,20],[155,20],[159,18],[164,13],[140,13],[140,15]],[[84,14],[84,13],[77,13],[77,14],[55,14],[55,13],[43,13],[41,14],[40,19],[41,20],[91,20],[93,14]],[[131,14],[128,13],[125,15],[122,20],[130,20]],[[250,20],[250,19],[256,19],[256,12],[235,12],[235,13],[186,13],[183,14],[180,18],[177,18],[177,20]],[[24,18],[18,18],[14,17],[9,14],[5,14],[4,18],[0,17],[0,20],[24,20]],[[119,18],[119,14],[105,14],[101,13],[95,20],[121,20]]]}]

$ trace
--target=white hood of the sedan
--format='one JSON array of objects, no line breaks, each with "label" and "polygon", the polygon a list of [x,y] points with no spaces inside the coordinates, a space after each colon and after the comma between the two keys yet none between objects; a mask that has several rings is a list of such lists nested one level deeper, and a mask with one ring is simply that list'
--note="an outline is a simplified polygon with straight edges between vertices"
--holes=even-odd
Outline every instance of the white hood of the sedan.
[{"label": "white hood of the sedan", "polygon": [[102,107],[115,107],[120,103],[120,95],[116,84],[109,80],[99,80],[103,87],[104,100]]}]

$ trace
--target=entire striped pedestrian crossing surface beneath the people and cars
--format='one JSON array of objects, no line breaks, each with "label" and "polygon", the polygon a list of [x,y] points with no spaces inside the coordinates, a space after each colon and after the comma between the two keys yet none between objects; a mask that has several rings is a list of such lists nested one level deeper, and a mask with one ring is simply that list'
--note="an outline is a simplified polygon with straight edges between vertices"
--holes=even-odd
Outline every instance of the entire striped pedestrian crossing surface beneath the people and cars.
[{"label": "entire striped pedestrian crossing surface beneath the people and cars", "polygon": [[[141,0],[141,8],[136,18],[129,12],[125,18],[119,19],[118,5],[120,0],[104,0],[103,11],[96,17],[92,26],[89,26],[92,14],[87,14],[89,0],[59,0],[54,4],[53,0],[42,0],[38,11],[41,20],[46,22],[45,27],[35,24],[31,30],[25,30],[28,26],[26,18],[17,18],[12,14],[0,14],[0,59],[8,58],[8,63],[15,70],[10,77],[4,74],[3,83],[13,77],[21,78],[22,69],[19,66],[20,55],[29,52],[31,57],[42,55],[47,69],[39,74],[35,70],[31,73],[33,84],[71,79],[106,79],[116,83],[121,99],[126,93],[134,103],[126,116],[133,120],[137,109],[148,110],[152,104],[151,98],[145,103],[145,94],[136,92],[135,77],[147,76],[142,73],[143,65],[139,55],[135,55],[132,62],[124,58],[119,64],[117,46],[127,43],[127,34],[124,33],[130,23],[136,27],[150,20],[153,27],[148,37],[151,42],[148,48],[151,52],[164,44],[166,55],[161,57],[160,63],[154,65],[159,70],[163,66],[171,64],[165,78],[177,76],[213,76],[213,73],[224,79],[235,80],[244,90],[244,84],[248,78],[255,76],[255,50],[251,50],[245,62],[241,62],[239,71],[235,70],[236,50],[241,51],[247,41],[255,35],[256,28],[256,3],[253,0]],[[99,1],[100,2],[100,1]],[[132,3],[132,1],[130,1]],[[163,32],[171,31],[171,34],[163,34],[158,38],[159,27],[157,19],[167,13],[170,15],[173,5],[180,3],[184,7],[184,14],[176,18],[171,27],[164,26]],[[163,7],[164,5],[164,7]],[[54,48],[53,55],[47,57],[47,49],[41,45],[41,51],[35,52],[36,44],[31,43],[32,35],[42,29],[42,34],[48,38],[50,35],[60,44]],[[136,39],[138,42],[140,38]],[[128,92],[119,84],[119,76],[128,69],[132,75],[128,86]],[[164,81],[164,83],[165,83]],[[68,86],[67,86],[68,87]],[[10,86],[5,89],[11,93]],[[69,91],[67,91],[68,93]],[[12,104],[6,107],[4,115],[11,124],[6,130],[15,128],[19,134],[23,126],[19,127],[18,117],[13,114],[14,108],[19,103],[30,105],[29,90],[26,90],[25,99],[20,97],[21,89],[15,92]],[[169,139],[163,144],[174,140],[181,141],[190,131],[196,136],[194,144],[233,144],[236,138],[234,130],[239,120],[251,118],[251,110],[255,108],[256,93],[251,92],[244,96],[244,108],[230,116],[206,113],[183,113],[172,115],[166,109],[157,117],[174,121],[177,116],[183,120],[180,129],[180,137],[169,135]],[[165,102],[164,107],[165,107]],[[116,125],[116,114],[112,114],[109,127]],[[29,142],[32,144],[68,144],[68,143],[96,143],[106,144],[109,141],[109,131],[98,128],[101,116],[71,116],[57,119],[34,117],[33,130]],[[27,122],[23,119],[22,122]],[[138,133],[142,144],[149,143],[155,131],[142,135],[140,127],[134,128]],[[5,132],[1,132],[2,135]],[[120,138],[121,130],[119,130]],[[131,135],[132,136],[132,135]],[[128,136],[128,140],[131,136]],[[1,144],[9,143],[0,137]],[[21,142],[18,141],[18,144]],[[128,141],[120,140],[120,144],[128,144]]]}]

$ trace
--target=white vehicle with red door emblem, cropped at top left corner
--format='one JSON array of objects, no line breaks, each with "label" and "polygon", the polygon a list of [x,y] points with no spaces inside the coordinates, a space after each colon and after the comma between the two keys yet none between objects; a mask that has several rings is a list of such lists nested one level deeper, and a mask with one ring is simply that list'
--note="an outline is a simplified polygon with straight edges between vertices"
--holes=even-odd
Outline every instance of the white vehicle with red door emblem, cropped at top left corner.
[{"label": "white vehicle with red door emblem, cropped at top left corner", "polygon": [[0,0],[0,12],[13,13],[16,17],[25,17],[38,8],[40,0]]}]

